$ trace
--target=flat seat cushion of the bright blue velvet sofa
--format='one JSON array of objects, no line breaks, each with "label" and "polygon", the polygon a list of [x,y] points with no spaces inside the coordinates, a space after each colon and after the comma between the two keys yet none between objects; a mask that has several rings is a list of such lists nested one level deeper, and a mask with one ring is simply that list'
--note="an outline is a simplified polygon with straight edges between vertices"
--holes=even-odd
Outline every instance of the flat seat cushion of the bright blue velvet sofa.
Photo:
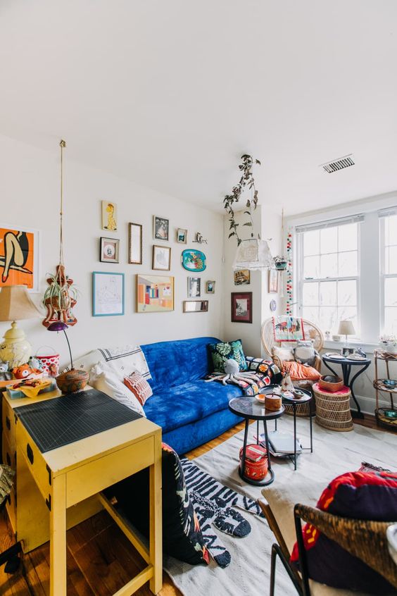
[{"label": "flat seat cushion of the bright blue velvet sofa", "polygon": [[229,400],[241,395],[237,385],[196,380],[153,394],[145,403],[144,411],[149,420],[161,426],[164,435],[227,409]]}]

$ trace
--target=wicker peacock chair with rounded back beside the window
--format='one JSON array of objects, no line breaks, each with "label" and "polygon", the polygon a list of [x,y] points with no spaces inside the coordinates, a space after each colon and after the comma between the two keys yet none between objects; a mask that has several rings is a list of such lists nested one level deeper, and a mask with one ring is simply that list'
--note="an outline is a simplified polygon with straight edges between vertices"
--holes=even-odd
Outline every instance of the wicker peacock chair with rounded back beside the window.
[{"label": "wicker peacock chair with rounded back beside the window", "polygon": [[[277,322],[277,317],[276,317]],[[314,323],[310,323],[310,321],[306,321],[306,319],[302,319],[303,322],[303,332],[306,338],[313,340],[313,347],[320,352],[322,346],[324,344],[324,336],[322,335],[322,331],[315,325]],[[273,348],[275,346],[281,347],[282,342],[277,342],[275,340],[275,332],[273,328],[273,317],[268,318],[262,325],[261,331],[261,339],[263,349],[267,354],[270,354],[272,360],[275,364],[279,367],[280,371],[283,370],[284,366],[282,361],[273,354]],[[321,358],[320,356],[316,356],[315,363],[313,364],[313,368],[316,371],[320,372],[321,370]],[[296,382],[296,385],[301,387],[302,389],[307,389],[311,391],[313,380],[300,380]],[[286,406],[286,414],[292,414],[292,406]],[[296,407],[296,415],[297,416],[308,416],[309,415],[309,406],[308,404],[303,404],[302,406]]]}]

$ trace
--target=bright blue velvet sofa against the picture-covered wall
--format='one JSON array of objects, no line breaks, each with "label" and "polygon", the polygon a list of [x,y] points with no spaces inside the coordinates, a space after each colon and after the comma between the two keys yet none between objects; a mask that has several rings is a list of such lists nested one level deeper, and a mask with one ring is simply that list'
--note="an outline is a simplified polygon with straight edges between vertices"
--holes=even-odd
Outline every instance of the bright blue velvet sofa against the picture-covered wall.
[{"label": "bright blue velvet sofa against the picture-covered wall", "polygon": [[228,409],[232,397],[242,395],[237,385],[205,383],[213,371],[207,345],[216,337],[142,345],[152,379],[153,396],[144,411],[163,428],[163,441],[183,454],[218,437],[241,418]]}]

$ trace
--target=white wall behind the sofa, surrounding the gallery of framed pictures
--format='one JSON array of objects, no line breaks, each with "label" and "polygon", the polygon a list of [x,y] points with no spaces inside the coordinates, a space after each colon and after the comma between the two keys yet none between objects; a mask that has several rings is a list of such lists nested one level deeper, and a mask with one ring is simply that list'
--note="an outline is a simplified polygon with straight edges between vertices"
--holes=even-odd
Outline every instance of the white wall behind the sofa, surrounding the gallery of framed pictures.
[{"label": "white wall behind the sofa, surrounding the gallery of framed pictures", "polygon": [[[66,139],[68,142],[68,139]],[[130,180],[117,178],[73,161],[73,147],[65,149],[64,185],[64,245],[66,273],[75,280],[80,299],[74,309],[78,323],[68,330],[73,354],[80,356],[93,347],[160,340],[175,340],[203,335],[222,336],[222,215],[184,203]],[[58,263],[59,213],[59,147],[54,142],[52,153],[0,136],[0,197],[1,226],[18,229],[34,228],[40,232],[39,294],[31,294],[39,304],[46,287],[46,273],[55,273]],[[150,184],[150,180],[148,180]],[[118,204],[118,231],[101,230],[101,199]],[[175,275],[175,311],[172,313],[135,313],[135,274],[153,273],[153,215],[170,219],[172,266]],[[143,224],[143,264],[129,265],[127,223]],[[188,228],[188,243],[175,242],[176,228]],[[201,249],[207,256],[207,268],[201,277],[201,297],[208,299],[208,313],[182,313],[182,301],[187,299],[187,278],[190,275],[180,263],[185,248],[200,231],[208,244]],[[99,237],[120,238],[120,264],[99,262]],[[125,316],[92,316],[92,271],[125,273]],[[215,280],[215,294],[205,294],[206,280]],[[66,345],[62,335],[46,331],[39,319],[21,321],[34,352],[49,345],[66,361]],[[0,323],[0,336],[9,327]],[[44,350],[45,351],[45,350]],[[46,350],[48,351],[48,350]]]}]

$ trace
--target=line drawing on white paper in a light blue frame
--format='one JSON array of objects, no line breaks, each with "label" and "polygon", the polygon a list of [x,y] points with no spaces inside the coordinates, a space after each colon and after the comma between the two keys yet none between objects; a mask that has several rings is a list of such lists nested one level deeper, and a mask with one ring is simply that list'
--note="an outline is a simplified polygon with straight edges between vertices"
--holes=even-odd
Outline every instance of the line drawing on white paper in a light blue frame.
[{"label": "line drawing on white paper in a light blue frame", "polygon": [[92,316],[124,314],[124,273],[92,273]]}]

